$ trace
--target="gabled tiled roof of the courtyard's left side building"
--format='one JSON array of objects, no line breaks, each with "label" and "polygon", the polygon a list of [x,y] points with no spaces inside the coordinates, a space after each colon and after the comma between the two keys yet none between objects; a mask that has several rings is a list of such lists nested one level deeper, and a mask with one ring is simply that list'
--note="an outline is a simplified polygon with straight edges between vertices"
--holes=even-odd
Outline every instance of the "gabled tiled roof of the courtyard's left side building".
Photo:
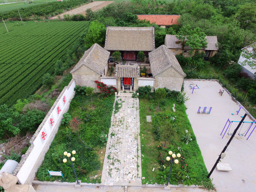
[{"label": "gabled tiled roof of the courtyard's left side building", "polygon": [[102,75],[108,63],[109,54],[109,51],[103,49],[100,45],[95,43],[90,47],[90,49],[85,51],[83,57],[78,61],[70,73],[74,73],[84,65],[93,70],[95,73]]}]

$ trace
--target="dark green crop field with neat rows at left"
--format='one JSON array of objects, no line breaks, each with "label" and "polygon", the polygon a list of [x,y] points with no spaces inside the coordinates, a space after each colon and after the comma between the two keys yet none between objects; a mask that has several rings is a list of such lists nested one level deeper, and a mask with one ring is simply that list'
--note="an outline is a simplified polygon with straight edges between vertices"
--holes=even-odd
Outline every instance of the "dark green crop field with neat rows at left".
[{"label": "dark green crop field with neat rows at left", "polygon": [[0,23],[0,105],[27,98],[52,73],[55,61],[89,26],[88,21]]}]

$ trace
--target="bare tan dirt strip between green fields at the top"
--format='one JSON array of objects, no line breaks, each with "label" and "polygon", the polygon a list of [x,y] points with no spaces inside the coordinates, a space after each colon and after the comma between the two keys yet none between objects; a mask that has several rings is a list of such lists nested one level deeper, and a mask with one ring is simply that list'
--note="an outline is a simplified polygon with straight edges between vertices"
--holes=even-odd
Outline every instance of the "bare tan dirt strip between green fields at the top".
[{"label": "bare tan dirt strip between green fields at the top", "polygon": [[98,10],[102,9],[103,7],[109,5],[110,3],[113,3],[113,2],[115,2],[115,1],[95,1],[95,2],[92,2],[92,3],[88,3],[86,5],[79,6],[76,9],[66,11],[64,13],[56,15],[56,16],[52,17],[51,19],[58,19],[59,16],[60,16],[61,19],[64,19],[65,14],[66,15],[67,14],[69,14],[69,15],[73,15],[73,14],[83,14],[83,15],[85,15],[87,9],[91,9],[92,11],[98,11]]}]

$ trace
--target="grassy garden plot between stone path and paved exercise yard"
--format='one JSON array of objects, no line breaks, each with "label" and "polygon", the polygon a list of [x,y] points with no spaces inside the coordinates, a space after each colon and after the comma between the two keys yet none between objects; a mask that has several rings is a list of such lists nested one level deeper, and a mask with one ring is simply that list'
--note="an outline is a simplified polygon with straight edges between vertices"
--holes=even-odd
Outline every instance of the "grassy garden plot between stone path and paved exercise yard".
[{"label": "grassy garden plot between stone path and paved exercise yard", "polygon": [[[145,177],[142,183],[167,182],[171,163],[166,161],[166,156],[171,150],[181,154],[177,158],[179,164],[173,163],[171,184],[213,188],[211,180],[206,178],[208,172],[187,118],[185,105],[177,101],[177,94],[170,92],[168,98],[159,103],[159,110],[156,100],[140,99],[142,177]],[[172,110],[173,103],[176,112]],[[151,115],[152,122],[146,122],[146,115]]]}]

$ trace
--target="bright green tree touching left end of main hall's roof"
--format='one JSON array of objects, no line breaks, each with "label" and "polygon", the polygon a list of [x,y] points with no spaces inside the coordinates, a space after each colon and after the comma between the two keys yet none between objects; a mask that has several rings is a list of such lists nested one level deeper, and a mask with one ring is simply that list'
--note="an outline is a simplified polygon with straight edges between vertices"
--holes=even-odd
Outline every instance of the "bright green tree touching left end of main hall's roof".
[{"label": "bright green tree touching left end of main hall's roof", "polygon": [[106,27],[99,21],[92,21],[84,39],[86,49],[89,49],[94,43],[98,43],[100,46],[103,46],[105,36]]}]

